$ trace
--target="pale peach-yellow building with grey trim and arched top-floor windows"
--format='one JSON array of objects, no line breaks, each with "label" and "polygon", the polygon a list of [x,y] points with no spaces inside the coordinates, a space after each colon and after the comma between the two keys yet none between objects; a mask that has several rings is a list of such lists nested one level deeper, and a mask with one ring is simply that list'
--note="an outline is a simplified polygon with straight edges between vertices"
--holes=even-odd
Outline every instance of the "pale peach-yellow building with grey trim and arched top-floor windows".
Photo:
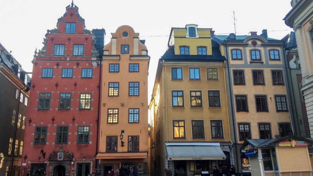
[{"label": "pale peach-yellow building with grey trim and arched top-floor windows", "polygon": [[[232,141],[239,172],[251,172],[249,159],[241,154],[246,139],[274,139],[293,134],[290,123],[290,91],[284,42],[261,35],[214,35],[227,55],[227,83]],[[241,160],[241,161],[240,161]],[[239,164],[237,164],[239,163]],[[240,165],[241,163],[241,165]],[[275,167],[266,170],[275,173]]]}]

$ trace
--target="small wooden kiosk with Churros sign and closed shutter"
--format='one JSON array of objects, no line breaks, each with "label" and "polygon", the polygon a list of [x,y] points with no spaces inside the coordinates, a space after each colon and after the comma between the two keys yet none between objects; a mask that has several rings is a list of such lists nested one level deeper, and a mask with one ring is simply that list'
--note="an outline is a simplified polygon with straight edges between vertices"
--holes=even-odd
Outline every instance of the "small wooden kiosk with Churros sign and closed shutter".
[{"label": "small wooden kiosk with Churros sign and closed shutter", "polygon": [[277,139],[247,139],[242,148],[253,176],[312,176],[313,140],[295,135]]}]

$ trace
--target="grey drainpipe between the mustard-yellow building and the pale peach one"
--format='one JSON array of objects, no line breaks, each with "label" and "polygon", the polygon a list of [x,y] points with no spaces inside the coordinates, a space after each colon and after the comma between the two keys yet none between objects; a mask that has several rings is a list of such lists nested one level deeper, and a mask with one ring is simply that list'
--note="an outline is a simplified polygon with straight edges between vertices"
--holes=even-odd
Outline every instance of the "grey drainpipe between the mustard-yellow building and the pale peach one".
[{"label": "grey drainpipe between the mustard-yellow building and the pale peach one", "polygon": [[[225,42],[225,48],[226,48],[226,56],[228,56],[228,49],[227,44]],[[231,85],[231,75],[230,75],[230,68],[229,68],[229,60],[227,57],[227,69],[228,69],[228,84],[229,84],[229,95],[230,95],[230,106],[232,110],[232,119],[233,119],[233,134],[234,134],[234,140],[235,140],[235,155],[236,155],[236,162],[237,162],[237,175],[239,176],[239,166],[238,166],[238,150],[237,150],[237,135],[236,135],[236,125],[235,125],[235,119],[234,119],[234,109],[233,109],[233,93],[232,93],[232,85]]]}]

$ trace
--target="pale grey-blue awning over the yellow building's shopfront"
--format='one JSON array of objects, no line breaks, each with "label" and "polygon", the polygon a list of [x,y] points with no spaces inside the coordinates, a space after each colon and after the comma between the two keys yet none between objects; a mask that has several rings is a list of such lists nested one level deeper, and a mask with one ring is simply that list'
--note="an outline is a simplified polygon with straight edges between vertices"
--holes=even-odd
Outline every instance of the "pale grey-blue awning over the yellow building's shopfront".
[{"label": "pale grey-blue awning over the yellow building's shopfront", "polygon": [[168,160],[224,160],[219,145],[166,145]]}]

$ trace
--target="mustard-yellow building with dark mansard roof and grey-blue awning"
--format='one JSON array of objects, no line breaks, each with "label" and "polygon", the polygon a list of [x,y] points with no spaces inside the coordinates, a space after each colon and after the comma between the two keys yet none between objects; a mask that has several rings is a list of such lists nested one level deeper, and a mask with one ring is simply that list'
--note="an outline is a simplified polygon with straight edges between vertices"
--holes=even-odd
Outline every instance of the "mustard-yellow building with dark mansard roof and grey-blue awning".
[{"label": "mustard-yellow building with dark mansard roof and grey-blue awning", "polygon": [[223,45],[211,28],[172,28],[149,105],[151,176],[210,173],[231,163],[231,136]]}]

